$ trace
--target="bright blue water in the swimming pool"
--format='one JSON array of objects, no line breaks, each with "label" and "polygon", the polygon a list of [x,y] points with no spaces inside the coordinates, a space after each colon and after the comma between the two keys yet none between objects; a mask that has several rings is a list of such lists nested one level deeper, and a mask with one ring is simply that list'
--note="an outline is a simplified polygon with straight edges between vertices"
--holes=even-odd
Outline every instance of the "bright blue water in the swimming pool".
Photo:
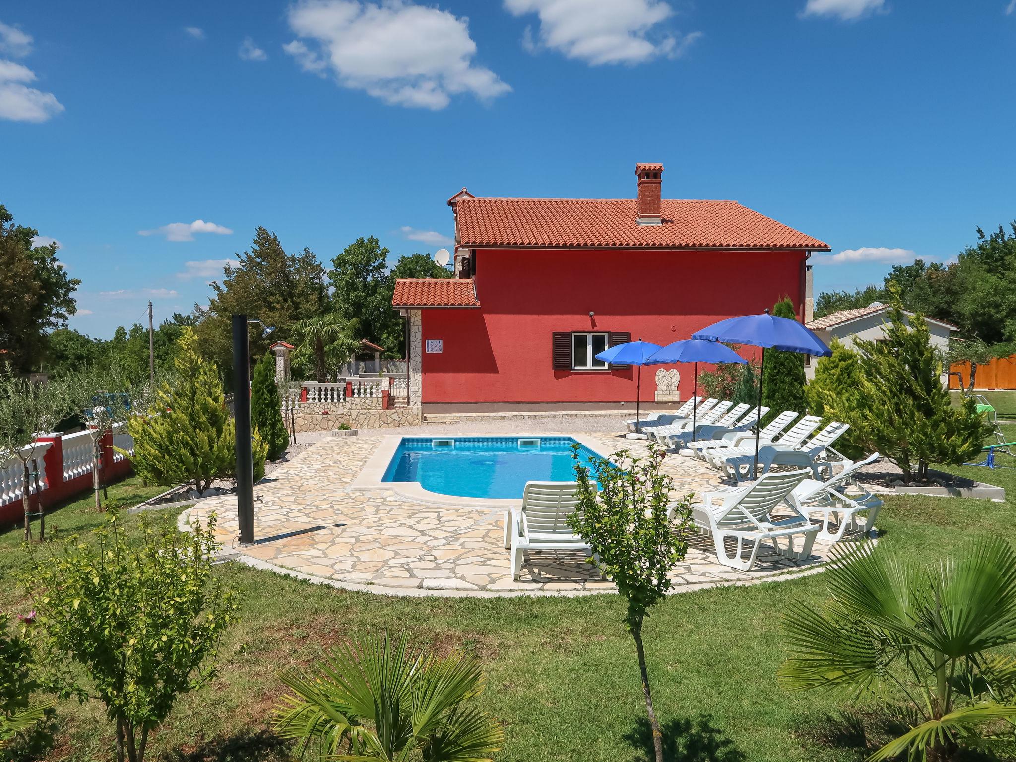
[{"label": "bright blue water in the swimming pool", "polygon": [[[573,444],[571,437],[403,437],[383,481],[466,498],[521,498],[529,481],[575,481]],[[594,456],[580,446],[583,465]]]}]

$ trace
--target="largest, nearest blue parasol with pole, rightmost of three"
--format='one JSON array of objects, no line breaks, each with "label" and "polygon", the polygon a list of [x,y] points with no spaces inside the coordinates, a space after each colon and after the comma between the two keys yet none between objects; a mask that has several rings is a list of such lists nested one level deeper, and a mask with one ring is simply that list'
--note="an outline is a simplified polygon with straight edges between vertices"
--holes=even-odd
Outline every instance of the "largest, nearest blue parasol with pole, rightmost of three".
[{"label": "largest, nearest blue parasol with pole, rightmost of three", "polygon": [[[765,378],[765,351],[797,352],[802,355],[827,358],[832,352],[815,332],[797,320],[770,315],[766,310],[761,315],[742,315],[720,320],[692,334],[692,338],[706,341],[726,341],[737,344],[752,344],[762,347],[762,367],[759,369],[759,411],[762,410],[762,381]],[[759,417],[761,419],[761,416]],[[752,479],[759,465],[759,429],[755,427],[755,459],[752,461]]]}]

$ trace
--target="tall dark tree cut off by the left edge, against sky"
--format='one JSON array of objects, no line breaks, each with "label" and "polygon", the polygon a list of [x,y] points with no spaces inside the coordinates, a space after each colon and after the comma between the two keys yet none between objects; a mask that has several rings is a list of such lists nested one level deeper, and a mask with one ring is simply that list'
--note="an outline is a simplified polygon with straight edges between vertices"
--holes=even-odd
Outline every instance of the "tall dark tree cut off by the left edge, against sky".
[{"label": "tall dark tree cut off by the left edge, against sky", "polygon": [[57,260],[56,243],[35,245],[38,235],[0,204],[0,352],[22,373],[42,361],[47,331],[74,314],[72,295],[81,283]]}]

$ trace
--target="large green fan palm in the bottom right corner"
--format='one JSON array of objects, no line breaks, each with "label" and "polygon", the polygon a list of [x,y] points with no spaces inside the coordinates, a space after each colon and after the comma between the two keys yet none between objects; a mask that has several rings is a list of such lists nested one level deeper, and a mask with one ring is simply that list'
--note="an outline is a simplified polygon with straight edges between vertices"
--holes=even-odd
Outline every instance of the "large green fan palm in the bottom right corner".
[{"label": "large green fan palm in the bottom right corner", "polygon": [[968,543],[928,568],[863,546],[826,572],[832,599],[788,613],[788,690],[841,688],[874,697],[909,731],[870,757],[942,762],[961,747],[1013,750],[1016,552],[998,537]]}]

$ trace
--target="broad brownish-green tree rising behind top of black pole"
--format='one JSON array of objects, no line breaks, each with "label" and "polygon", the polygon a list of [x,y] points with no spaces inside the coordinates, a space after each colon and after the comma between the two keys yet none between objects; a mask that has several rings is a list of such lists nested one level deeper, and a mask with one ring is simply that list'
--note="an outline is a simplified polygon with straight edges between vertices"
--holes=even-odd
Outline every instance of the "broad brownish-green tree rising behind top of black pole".
[{"label": "broad brownish-green tree rising behind top of black pole", "polygon": [[225,268],[221,283],[212,283],[208,306],[195,305],[202,351],[224,371],[233,367],[233,315],[275,328],[270,338],[251,331],[251,357],[260,357],[271,341],[291,341],[294,324],[328,304],[324,267],[310,249],[287,254],[274,233],[258,228],[250,251],[237,259]]}]

